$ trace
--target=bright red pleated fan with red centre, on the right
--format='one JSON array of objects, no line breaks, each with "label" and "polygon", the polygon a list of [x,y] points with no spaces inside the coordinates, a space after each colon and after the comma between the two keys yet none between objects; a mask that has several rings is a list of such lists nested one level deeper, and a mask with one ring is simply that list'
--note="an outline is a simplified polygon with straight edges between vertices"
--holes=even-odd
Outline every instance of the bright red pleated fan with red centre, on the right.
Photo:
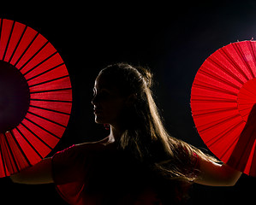
[{"label": "bright red pleated fan with red centre, on the right", "polygon": [[199,68],[191,92],[200,137],[221,161],[251,176],[256,176],[256,135],[241,131],[256,102],[255,55],[255,41],[217,50]]}]

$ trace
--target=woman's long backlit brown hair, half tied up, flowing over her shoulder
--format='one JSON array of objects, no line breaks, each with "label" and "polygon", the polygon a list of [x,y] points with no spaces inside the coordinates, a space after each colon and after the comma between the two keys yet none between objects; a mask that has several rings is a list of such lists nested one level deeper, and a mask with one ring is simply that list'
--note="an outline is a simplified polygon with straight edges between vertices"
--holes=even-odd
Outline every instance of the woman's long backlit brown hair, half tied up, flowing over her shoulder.
[{"label": "woman's long backlit brown hair, half tied up, flowing over her shoulder", "polygon": [[197,158],[213,158],[166,131],[152,97],[149,69],[116,63],[105,67],[98,75],[115,83],[122,95],[134,97],[134,102],[123,114],[125,132],[119,142],[120,148],[128,150],[165,179],[196,179],[199,174]]}]

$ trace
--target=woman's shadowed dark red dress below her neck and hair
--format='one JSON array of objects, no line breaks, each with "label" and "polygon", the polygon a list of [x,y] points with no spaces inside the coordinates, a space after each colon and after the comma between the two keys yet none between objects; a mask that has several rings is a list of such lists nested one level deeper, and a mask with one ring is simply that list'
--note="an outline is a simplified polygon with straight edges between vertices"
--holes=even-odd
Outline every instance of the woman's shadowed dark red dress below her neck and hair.
[{"label": "woman's shadowed dark red dress below her neck and hair", "polygon": [[76,205],[162,205],[152,173],[113,147],[73,145],[52,157],[53,179],[63,199]]}]

